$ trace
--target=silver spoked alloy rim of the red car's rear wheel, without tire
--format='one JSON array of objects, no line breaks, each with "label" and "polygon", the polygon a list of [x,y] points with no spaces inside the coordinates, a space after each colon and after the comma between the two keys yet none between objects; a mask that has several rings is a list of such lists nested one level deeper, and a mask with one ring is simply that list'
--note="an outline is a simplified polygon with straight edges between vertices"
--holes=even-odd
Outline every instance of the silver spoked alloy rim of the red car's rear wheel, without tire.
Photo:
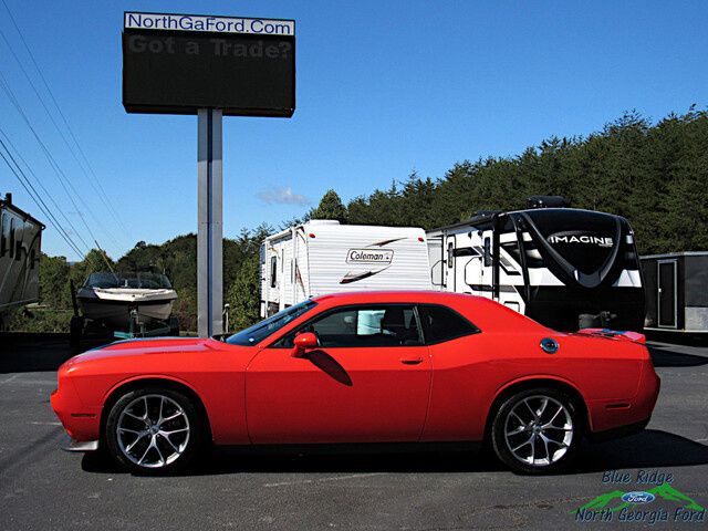
[{"label": "silver spoked alloy rim of the red car's rear wheel, without tire", "polygon": [[504,439],[516,459],[545,467],[561,459],[573,441],[573,417],[550,396],[528,396],[516,404],[504,421]]}]

